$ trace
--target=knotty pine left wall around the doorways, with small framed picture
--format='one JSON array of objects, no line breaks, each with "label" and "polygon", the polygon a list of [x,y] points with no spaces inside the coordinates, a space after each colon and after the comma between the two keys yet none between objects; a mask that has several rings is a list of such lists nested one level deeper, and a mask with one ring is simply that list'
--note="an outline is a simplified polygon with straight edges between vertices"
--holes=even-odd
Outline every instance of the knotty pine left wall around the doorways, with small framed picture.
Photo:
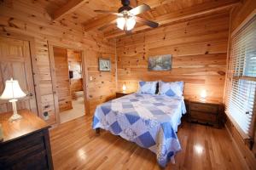
[{"label": "knotty pine left wall around the doorways, with small framed picture", "polygon": [[[115,95],[114,42],[103,40],[101,35],[94,32],[84,32],[82,26],[76,22],[52,21],[46,9],[40,6],[40,2],[31,0],[15,0],[10,5],[6,1],[0,1],[0,32],[5,35],[22,34],[34,37],[39,77],[39,84],[36,85],[40,88],[42,100],[42,108],[38,109],[41,113],[49,112],[49,124],[54,124],[56,118],[48,42],[85,50],[86,74],[93,79],[90,81],[86,77],[90,113],[93,113],[97,104],[112,99]],[[102,56],[112,59],[112,71],[101,73],[97,70],[98,57]]]}]

